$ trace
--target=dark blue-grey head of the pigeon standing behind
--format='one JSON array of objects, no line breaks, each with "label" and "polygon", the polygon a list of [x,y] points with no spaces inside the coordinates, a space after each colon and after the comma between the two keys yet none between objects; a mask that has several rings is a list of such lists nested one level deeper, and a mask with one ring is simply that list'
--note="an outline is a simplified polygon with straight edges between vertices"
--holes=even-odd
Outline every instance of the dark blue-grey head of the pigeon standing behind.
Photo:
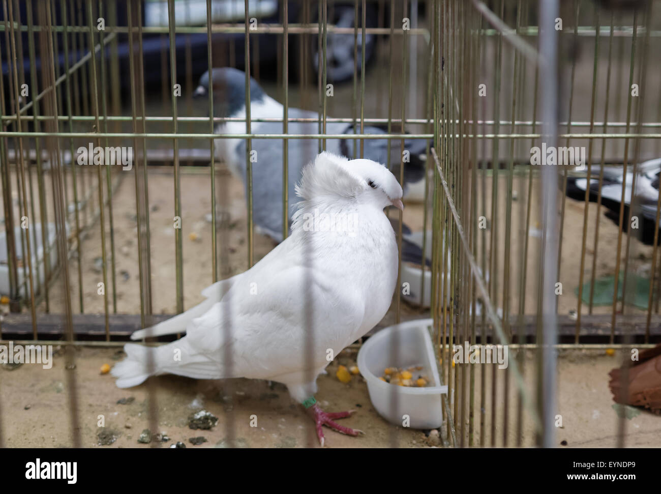
[{"label": "dark blue-grey head of the pigeon standing behind", "polygon": [[[208,97],[209,88],[214,91],[214,116],[235,116],[243,108],[246,101],[245,72],[232,67],[212,69],[211,77],[206,71],[200,77],[198,87],[193,93],[194,98]],[[250,79],[251,103],[262,101],[266,93],[252,77]]]}]

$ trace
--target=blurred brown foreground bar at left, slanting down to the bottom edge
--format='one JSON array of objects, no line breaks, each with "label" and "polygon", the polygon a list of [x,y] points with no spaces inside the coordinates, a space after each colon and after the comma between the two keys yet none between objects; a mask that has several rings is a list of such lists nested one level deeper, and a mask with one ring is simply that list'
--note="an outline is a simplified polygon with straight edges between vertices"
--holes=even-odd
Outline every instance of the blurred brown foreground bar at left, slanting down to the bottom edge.
[{"label": "blurred brown foreground bar at left, slanting down to the bottom edge", "polygon": [[[40,9],[38,11],[38,20],[40,26],[44,28],[40,32],[40,41],[41,41],[41,60],[42,60],[42,87],[54,87],[55,85],[55,68],[52,61],[55,59],[54,48],[53,48],[53,38],[52,38],[52,26],[51,21],[51,11],[48,8],[47,4],[40,4]],[[48,26],[48,28],[46,28]],[[92,48],[93,50],[93,48]],[[50,134],[58,134],[58,104],[56,99],[55,91],[50,91],[48,95],[44,98],[44,108],[46,108],[46,114],[52,115],[54,118],[47,123],[47,132]],[[73,342],[73,310],[71,308],[71,286],[69,280],[69,266],[67,262],[67,235],[65,228],[65,204],[64,204],[64,194],[63,194],[63,172],[62,172],[62,163],[61,163],[61,151],[59,148],[59,139],[55,136],[51,136],[49,139],[50,145],[47,147],[50,149],[51,163],[54,167],[53,175],[53,185],[54,185],[54,204],[55,204],[55,218],[56,218],[56,230],[57,238],[59,244],[59,256],[61,263],[61,276],[63,280],[63,294],[65,302],[65,335],[69,343]],[[69,418],[71,419],[71,435],[73,436],[73,447],[81,447],[81,434],[80,434],[80,424],[78,417],[78,397],[77,397],[77,379],[75,372],[75,349],[73,345],[66,345],[65,348],[65,364],[67,368],[66,378],[67,378],[67,391],[69,395]]]}]

